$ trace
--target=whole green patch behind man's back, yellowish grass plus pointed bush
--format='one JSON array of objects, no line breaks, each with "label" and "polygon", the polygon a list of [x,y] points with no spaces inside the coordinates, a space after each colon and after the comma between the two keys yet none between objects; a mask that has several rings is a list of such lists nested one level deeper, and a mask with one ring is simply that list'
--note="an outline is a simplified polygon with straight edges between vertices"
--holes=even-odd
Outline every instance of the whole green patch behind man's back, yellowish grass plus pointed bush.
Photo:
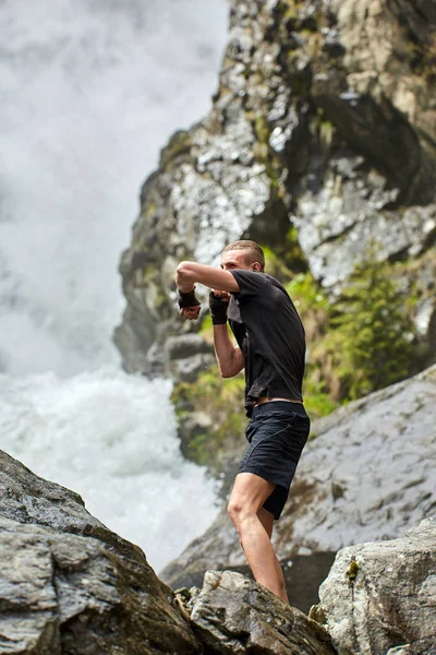
[{"label": "whole green patch behind man's back, yellowish grass plus pointed bush", "polygon": [[409,374],[413,299],[404,299],[375,246],[338,298],[329,299],[311,273],[295,275],[286,287],[306,331],[303,392],[313,418]]}]

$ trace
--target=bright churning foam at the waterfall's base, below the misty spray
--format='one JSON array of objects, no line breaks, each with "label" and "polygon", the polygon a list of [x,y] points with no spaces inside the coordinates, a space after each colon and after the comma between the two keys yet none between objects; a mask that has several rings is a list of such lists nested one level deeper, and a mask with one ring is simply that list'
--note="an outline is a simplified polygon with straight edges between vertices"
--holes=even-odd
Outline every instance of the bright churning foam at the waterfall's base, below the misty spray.
[{"label": "bright churning foam at the waterfall's base, below the misty spray", "polygon": [[[161,568],[214,515],[214,486],[184,462],[169,382],[112,367],[60,380],[0,376],[2,449],[81,493],[111,529]],[[195,516],[195,522],[192,522]]]}]

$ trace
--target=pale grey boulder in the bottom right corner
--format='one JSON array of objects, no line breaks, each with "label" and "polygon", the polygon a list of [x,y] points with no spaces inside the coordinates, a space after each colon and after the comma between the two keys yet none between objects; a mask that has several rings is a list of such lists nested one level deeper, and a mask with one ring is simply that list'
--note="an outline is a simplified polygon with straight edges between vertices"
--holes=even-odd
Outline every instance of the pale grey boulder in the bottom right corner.
[{"label": "pale grey boulder in the bottom right corner", "polygon": [[342,549],[319,597],[338,655],[436,652],[436,519]]}]

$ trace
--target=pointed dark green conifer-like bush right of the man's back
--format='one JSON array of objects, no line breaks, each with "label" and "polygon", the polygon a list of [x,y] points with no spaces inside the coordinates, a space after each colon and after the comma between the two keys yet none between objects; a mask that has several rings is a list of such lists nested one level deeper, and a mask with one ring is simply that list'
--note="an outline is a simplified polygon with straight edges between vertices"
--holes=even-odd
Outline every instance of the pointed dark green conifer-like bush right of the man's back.
[{"label": "pointed dark green conifer-like bush right of the man's back", "polygon": [[[373,247],[331,308],[323,359],[334,395],[359,398],[405,378],[413,355],[413,324],[389,265]],[[318,355],[320,352],[318,352]]]}]

